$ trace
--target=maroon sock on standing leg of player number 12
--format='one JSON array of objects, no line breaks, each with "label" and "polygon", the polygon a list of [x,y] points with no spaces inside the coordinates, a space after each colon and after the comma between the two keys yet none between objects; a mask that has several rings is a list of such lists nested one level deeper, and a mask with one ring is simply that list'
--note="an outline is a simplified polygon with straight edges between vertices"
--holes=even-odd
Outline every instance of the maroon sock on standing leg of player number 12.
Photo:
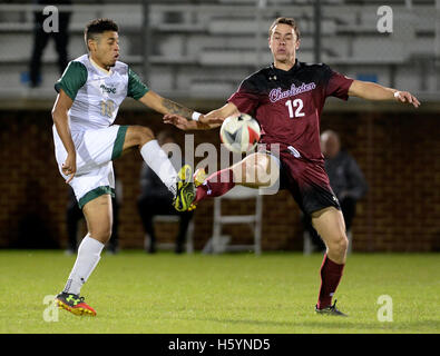
[{"label": "maroon sock on standing leg of player number 12", "polygon": [[322,309],[332,305],[332,297],[338,288],[345,265],[339,265],[332,261],[327,255],[321,266],[321,289],[317,299],[317,308]]}]

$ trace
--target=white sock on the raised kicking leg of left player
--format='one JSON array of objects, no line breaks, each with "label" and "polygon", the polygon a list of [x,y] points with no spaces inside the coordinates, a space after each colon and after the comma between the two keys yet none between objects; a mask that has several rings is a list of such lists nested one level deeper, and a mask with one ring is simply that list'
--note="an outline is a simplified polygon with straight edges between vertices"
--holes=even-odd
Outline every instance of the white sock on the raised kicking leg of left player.
[{"label": "white sock on the raised kicking leg of left player", "polygon": [[173,195],[176,195],[177,171],[157,140],[151,140],[140,148],[145,162],[162,179]]}]

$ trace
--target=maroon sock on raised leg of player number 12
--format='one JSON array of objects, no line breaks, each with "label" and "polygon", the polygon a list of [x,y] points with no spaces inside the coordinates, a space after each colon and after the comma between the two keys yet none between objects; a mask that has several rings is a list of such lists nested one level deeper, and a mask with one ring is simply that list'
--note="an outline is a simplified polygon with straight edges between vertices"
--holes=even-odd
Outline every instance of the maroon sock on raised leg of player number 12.
[{"label": "maroon sock on raised leg of player number 12", "polygon": [[219,197],[235,187],[234,175],[231,168],[212,174],[202,186],[197,187],[195,202],[208,197]]}]

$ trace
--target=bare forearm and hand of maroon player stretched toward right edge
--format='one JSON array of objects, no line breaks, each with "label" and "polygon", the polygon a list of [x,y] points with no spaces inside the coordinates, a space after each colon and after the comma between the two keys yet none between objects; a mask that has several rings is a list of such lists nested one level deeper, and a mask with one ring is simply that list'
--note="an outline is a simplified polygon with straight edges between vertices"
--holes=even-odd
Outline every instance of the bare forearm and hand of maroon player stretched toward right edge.
[{"label": "bare forearm and hand of maroon player stretched toward right edge", "polygon": [[397,100],[403,103],[411,103],[415,108],[420,101],[409,91],[385,88],[375,82],[353,80],[349,89],[349,96],[366,100]]}]

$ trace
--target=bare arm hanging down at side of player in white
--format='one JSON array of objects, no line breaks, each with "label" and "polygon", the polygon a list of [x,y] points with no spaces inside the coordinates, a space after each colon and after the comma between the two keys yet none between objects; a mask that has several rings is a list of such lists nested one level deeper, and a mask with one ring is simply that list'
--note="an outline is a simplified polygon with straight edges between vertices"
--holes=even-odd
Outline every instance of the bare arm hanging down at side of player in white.
[{"label": "bare arm hanging down at side of player in white", "polygon": [[71,139],[69,119],[67,115],[72,103],[74,101],[70,99],[70,97],[62,89],[60,89],[52,108],[53,123],[67,151],[66,161],[61,167],[62,172],[66,176],[69,176],[66,182],[70,182],[77,171],[77,151],[75,149],[74,140]]}]

